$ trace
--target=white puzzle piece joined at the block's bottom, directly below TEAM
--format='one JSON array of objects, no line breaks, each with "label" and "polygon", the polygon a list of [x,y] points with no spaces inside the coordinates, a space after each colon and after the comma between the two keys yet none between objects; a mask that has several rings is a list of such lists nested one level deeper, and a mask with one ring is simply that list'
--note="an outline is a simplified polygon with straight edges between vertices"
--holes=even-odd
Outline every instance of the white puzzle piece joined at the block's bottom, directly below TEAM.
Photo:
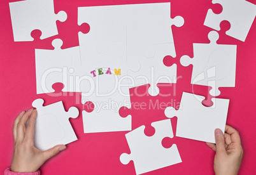
[{"label": "white puzzle piece joined at the block's bottom, directly below TEAM", "polygon": [[[124,93],[124,90],[122,93]],[[92,112],[86,112],[85,110],[82,112],[84,133],[131,131],[131,115],[125,118],[119,115],[121,107],[131,107],[128,87],[126,94],[122,93],[116,90],[111,93],[87,93],[82,95],[83,104],[87,101],[94,104]]]}]

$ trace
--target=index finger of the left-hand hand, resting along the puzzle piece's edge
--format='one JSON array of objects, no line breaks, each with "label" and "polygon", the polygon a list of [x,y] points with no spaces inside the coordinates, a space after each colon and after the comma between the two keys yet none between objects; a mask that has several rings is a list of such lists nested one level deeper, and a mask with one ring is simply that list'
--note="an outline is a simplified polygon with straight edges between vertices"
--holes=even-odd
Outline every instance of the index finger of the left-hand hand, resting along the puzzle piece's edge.
[{"label": "index finger of the left-hand hand, resting along the puzzle piece's edge", "polygon": [[38,115],[37,110],[33,110],[29,117],[29,123],[25,129],[25,141],[34,143],[34,124],[36,123],[36,116]]}]

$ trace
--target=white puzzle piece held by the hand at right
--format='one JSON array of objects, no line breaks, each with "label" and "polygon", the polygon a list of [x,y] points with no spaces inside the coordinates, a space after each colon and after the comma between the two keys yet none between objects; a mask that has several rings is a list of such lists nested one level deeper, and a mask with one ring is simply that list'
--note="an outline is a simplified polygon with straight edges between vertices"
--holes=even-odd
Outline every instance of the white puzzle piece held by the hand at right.
[{"label": "white puzzle piece held by the hand at right", "polygon": [[203,99],[203,96],[183,93],[179,110],[166,108],[166,117],[178,117],[176,136],[215,143],[215,129],[225,132],[229,100],[215,98],[213,107],[204,107]]}]

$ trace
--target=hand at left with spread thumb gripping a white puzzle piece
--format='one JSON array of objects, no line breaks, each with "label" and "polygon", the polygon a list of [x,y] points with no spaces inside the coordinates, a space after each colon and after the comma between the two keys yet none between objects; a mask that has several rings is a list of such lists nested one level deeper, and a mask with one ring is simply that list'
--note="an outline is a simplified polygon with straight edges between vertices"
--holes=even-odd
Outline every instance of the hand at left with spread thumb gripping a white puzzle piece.
[{"label": "hand at left with spread thumb gripping a white puzzle piece", "polygon": [[[57,145],[45,152],[34,146],[34,124],[37,110],[31,108],[21,112],[15,119],[13,126],[14,150],[11,161],[11,171],[34,172],[54,155],[66,149],[65,145]],[[27,126],[26,122],[29,120]]]}]

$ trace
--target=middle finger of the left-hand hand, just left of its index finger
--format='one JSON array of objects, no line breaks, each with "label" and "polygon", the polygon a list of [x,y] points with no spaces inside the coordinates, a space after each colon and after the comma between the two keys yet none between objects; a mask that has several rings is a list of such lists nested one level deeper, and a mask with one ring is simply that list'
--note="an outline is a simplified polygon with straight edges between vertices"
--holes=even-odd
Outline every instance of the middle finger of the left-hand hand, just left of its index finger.
[{"label": "middle finger of the left-hand hand, just left of its index finger", "polygon": [[29,119],[29,116],[31,115],[33,110],[34,110],[33,108],[29,109],[20,118],[20,121],[18,122],[18,125],[17,125],[17,141],[22,141],[24,139],[25,122],[27,122],[27,119]]}]

